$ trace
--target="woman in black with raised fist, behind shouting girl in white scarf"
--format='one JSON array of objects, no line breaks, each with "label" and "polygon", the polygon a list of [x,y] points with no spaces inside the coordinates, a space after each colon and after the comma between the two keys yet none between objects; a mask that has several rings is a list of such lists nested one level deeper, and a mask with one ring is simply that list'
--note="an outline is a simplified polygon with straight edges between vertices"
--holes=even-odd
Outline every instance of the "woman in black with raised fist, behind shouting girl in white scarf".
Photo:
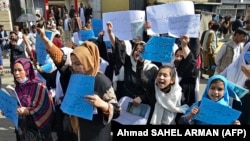
[{"label": "woman in black with raised fist, behind shouting girl in white scarf", "polygon": [[[158,67],[149,60],[141,57],[146,45],[145,42],[139,41],[134,44],[131,53],[126,53],[126,44],[124,40],[120,40],[113,33],[113,24],[107,23],[107,31],[112,45],[114,60],[114,75],[113,83],[117,84],[118,100],[123,96],[128,96],[134,99],[134,102],[139,104],[143,102],[147,91],[146,83],[154,82]],[[138,79],[137,75],[143,73],[143,79]],[[143,82],[142,82],[143,81]]]}]

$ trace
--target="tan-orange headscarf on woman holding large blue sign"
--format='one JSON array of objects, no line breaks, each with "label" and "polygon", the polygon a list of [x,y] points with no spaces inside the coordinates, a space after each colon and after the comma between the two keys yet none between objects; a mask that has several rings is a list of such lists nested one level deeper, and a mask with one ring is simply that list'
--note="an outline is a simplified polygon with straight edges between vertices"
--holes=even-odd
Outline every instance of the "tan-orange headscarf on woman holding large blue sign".
[{"label": "tan-orange headscarf on woman holding large blue sign", "polygon": [[71,54],[74,54],[83,65],[87,75],[96,76],[100,67],[100,55],[98,47],[85,41],[81,46],[75,48]]}]

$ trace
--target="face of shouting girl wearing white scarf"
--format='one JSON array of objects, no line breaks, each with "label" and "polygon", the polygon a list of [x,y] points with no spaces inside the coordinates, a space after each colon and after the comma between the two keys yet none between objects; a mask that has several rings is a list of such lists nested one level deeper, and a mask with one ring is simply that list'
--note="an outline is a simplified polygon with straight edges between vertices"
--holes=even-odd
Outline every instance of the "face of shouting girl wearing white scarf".
[{"label": "face of shouting girl wearing white scarf", "polygon": [[169,85],[174,83],[174,80],[171,78],[169,68],[162,68],[159,70],[157,77],[156,77],[156,84],[160,89],[164,89]]}]

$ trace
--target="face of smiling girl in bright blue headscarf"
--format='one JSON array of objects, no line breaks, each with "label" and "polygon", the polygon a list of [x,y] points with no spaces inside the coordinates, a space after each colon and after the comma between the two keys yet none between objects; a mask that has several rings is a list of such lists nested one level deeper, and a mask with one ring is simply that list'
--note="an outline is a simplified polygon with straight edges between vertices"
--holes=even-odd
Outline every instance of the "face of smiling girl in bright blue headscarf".
[{"label": "face of smiling girl in bright blue headscarf", "polygon": [[208,90],[208,96],[213,101],[218,101],[224,96],[224,83],[222,81],[212,82]]}]

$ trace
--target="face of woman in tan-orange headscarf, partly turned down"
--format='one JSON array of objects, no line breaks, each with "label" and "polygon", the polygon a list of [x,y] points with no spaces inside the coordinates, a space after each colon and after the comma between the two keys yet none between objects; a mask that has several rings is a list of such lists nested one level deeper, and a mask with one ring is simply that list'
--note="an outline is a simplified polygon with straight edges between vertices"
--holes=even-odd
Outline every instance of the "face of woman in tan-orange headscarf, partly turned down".
[{"label": "face of woman in tan-orange headscarf, partly turned down", "polygon": [[79,59],[73,54],[71,55],[73,73],[85,74],[86,71],[79,61]]}]

